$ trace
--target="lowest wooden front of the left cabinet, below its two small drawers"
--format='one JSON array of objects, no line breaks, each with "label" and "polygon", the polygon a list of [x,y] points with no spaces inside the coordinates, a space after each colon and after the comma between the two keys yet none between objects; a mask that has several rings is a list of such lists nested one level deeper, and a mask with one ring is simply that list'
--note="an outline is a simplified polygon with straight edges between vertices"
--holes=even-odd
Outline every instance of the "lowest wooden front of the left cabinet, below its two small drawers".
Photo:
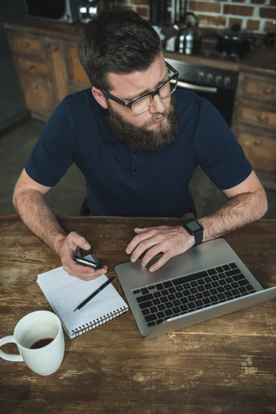
[{"label": "lowest wooden front of the left cabinet, below its two small drawers", "polygon": [[50,85],[46,78],[32,78],[23,73],[19,74],[19,83],[23,92],[26,107],[32,115],[39,119],[47,119],[55,109],[52,101]]}]

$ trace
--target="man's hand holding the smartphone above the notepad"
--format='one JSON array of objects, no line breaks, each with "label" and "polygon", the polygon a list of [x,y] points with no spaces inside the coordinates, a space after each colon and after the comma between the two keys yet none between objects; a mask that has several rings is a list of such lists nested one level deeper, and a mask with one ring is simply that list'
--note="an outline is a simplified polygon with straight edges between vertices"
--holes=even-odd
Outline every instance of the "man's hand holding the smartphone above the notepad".
[{"label": "man's hand holding the smartphone above the notepad", "polygon": [[83,250],[90,250],[90,244],[83,236],[79,235],[75,231],[69,233],[68,236],[61,242],[59,255],[61,257],[63,269],[66,270],[68,275],[88,281],[95,279],[108,271],[107,266],[103,266],[100,269],[93,269],[74,262],[72,257],[79,253],[79,248],[82,248]]}]

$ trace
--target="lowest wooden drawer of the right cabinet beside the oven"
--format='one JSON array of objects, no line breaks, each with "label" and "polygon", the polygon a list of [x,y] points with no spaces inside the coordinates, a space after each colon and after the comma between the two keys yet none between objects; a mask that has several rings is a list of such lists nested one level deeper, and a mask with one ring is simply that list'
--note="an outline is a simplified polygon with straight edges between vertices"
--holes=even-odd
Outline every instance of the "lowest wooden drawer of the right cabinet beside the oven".
[{"label": "lowest wooden drawer of the right cabinet beside the oven", "polygon": [[238,132],[237,139],[255,170],[276,173],[276,140],[250,132]]}]

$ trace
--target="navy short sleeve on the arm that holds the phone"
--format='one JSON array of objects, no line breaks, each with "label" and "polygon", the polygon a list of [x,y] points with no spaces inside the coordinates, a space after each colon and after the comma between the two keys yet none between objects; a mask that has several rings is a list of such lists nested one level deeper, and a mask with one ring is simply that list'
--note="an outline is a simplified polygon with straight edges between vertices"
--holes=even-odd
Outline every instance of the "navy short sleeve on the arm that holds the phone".
[{"label": "navy short sleeve on the arm that holds the phone", "polygon": [[66,99],[52,113],[34,146],[25,169],[43,186],[55,186],[73,162],[74,139]]}]

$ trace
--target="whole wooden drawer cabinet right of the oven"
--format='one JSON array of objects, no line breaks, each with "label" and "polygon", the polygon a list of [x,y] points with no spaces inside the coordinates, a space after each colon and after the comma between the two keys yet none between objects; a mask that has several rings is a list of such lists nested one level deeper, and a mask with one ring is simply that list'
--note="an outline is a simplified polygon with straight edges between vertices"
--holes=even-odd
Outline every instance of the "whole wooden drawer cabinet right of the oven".
[{"label": "whole wooden drawer cabinet right of the oven", "polygon": [[261,181],[276,189],[276,73],[239,74],[232,129]]}]

